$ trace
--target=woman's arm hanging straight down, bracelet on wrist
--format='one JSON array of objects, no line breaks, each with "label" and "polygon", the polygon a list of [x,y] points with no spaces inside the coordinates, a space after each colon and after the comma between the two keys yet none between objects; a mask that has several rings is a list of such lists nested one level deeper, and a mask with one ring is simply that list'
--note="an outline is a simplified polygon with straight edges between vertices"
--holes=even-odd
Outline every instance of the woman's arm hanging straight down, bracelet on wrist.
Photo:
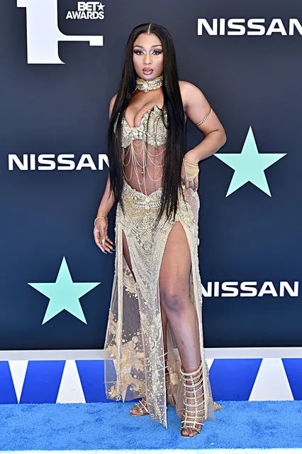
[{"label": "woman's arm hanging straight down, bracelet on wrist", "polygon": [[[111,112],[115,101],[116,94],[113,96],[109,104],[109,119],[111,117]],[[101,217],[99,217],[99,219],[96,219],[96,223],[94,225],[94,241],[96,242],[96,245],[101,249],[101,251],[105,254],[107,254],[107,252],[112,254],[111,251],[113,249],[113,242],[108,237],[108,214],[113,207],[114,202],[115,198],[113,193],[110,191],[110,177],[108,173],[106,188],[99,204],[99,210],[96,213],[96,217]]]}]

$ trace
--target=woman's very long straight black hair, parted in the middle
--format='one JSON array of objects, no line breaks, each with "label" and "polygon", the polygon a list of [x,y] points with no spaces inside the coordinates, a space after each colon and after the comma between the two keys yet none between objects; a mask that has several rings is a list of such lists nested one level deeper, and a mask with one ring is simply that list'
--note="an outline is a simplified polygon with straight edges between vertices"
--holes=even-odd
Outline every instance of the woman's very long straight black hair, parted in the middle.
[{"label": "woman's very long straight black hair, parted in the middle", "polygon": [[162,203],[158,219],[162,217],[164,210],[166,211],[167,219],[171,217],[175,219],[179,190],[181,190],[181,163],[186,149],[184,108],[179,90],[174,43],[166,28],[156,23],[142,23],[133,28],[126,45],[123,73],[108,129],[111,191],[116,201],[120,201],[123,208],[123,200],[121,198],[123,190],[121,121],[123,112],[133,96],[136,86],[135,80],[138,77],[133,65],[133,43],[140,33],[154,33],[162,41],[164,53],[162,92],[164,95],[164,107],[167,110],[167,144],[162,176]]}]

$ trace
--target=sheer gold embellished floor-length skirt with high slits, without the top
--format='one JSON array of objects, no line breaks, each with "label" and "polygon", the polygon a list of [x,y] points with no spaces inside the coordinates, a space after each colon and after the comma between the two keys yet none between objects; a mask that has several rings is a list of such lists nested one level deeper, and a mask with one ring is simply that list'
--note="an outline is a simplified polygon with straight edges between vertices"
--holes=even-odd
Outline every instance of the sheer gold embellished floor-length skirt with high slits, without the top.
[{"label": "sheer gold embellished floor-length skirt with high slits, without the top", "polygon": [[[206,418],[214,419],[214,408],[203,352],[202,296],[198,270],[198,195],[193,190],[187,191],[185,200],[180,195],[175,221],[166,222],[163,218],[154,227],[160,195],[161,188],[147,196],[127,184],[123,193],[125,212],[117,207],[116,261],[106,331],[104,377],[108,399],[129,401],[146,396],[150,417],[167,427],[167,403],[175,406],[179,417],[184,408],[181,360],[169,321],[167,351],[170,383],[166,390],[159,288],[164,248],[169,232],[177,221],[181,222],[184,229],[191,255],[189,294],[198,315]],[[123,256],[123,232],[136,281]]]}]

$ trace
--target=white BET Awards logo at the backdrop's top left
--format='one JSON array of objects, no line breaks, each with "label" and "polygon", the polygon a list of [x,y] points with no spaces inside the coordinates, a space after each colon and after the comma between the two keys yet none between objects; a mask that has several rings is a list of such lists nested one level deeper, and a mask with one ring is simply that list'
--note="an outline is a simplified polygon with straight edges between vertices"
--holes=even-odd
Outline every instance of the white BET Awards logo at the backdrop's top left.
[{"label": "white BET Awards logo at the backdrop's top left", "polygon": [[[94,9],[99,7],[100,10],[104,8],[99,1],[79,1],[79,4],[88,8],[88,11],[80,11],[86,15],[97,12]],[[60,41],[88,41],[89,45],[103,45],[103,36],[69,36],[62,33],[57,23],[57,0],[17,0],[17,6],[26,8],[27,62],[30,64],[64,65],[59,57]]]}]

